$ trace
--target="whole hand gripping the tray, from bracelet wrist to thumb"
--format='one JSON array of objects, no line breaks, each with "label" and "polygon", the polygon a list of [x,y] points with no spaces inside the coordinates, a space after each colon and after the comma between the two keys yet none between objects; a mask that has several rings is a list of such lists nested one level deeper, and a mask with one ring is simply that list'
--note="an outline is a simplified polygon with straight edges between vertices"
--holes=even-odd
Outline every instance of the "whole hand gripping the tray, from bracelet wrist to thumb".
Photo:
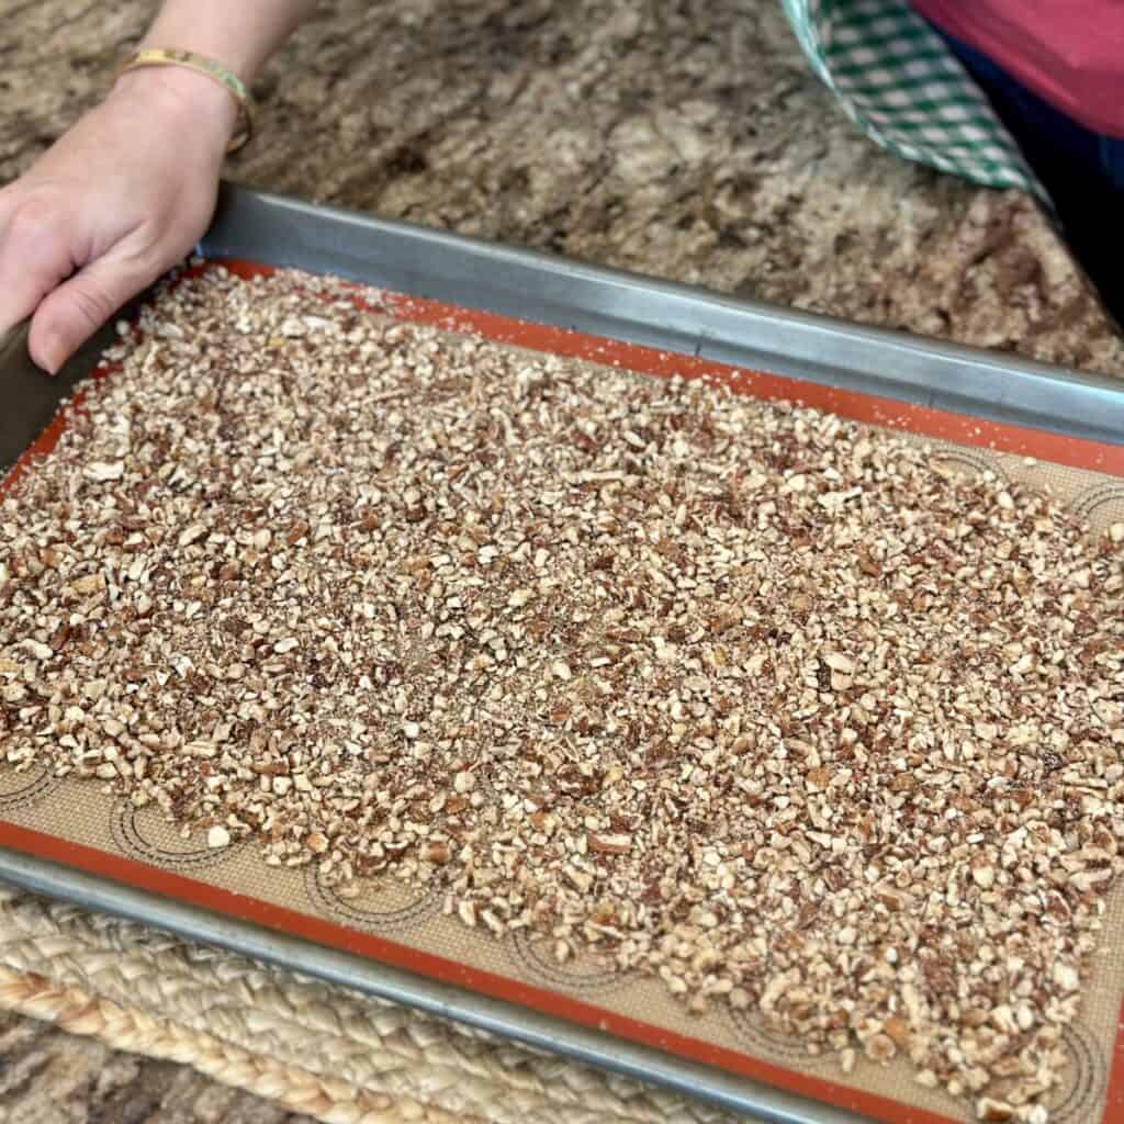
[{"label": "whole hand gripping the tray, from bracelet wrist to thumb", "polygon": [[0,189],[0,338],[31,317],[52,374],[207,228],[237,119],[188,70],[123,74],[109,97]]}]

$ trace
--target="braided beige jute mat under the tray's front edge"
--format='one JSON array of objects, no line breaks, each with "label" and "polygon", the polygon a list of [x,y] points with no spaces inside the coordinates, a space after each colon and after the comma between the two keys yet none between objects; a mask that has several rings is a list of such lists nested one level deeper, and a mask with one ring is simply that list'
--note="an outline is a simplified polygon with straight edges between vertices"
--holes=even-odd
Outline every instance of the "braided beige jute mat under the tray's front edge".
[{"label": "braided beige jute mat under the tray's front edge", "polygon": [[0,1007],[329,1124],[725,1124],[625,1078],[0,886]]}]

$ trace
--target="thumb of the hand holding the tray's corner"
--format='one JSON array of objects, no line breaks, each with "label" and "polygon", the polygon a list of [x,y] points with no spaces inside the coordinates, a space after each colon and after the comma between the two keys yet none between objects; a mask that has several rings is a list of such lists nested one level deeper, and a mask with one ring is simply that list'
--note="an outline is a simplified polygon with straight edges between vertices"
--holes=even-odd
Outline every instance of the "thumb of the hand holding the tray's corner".
[{"label": "thumb of the hand holding the tray's corner", "polygon": [[130,297],[160,277],[135,253],[111,250],[45,297],[31,318],[28,351],[52,374]]}]

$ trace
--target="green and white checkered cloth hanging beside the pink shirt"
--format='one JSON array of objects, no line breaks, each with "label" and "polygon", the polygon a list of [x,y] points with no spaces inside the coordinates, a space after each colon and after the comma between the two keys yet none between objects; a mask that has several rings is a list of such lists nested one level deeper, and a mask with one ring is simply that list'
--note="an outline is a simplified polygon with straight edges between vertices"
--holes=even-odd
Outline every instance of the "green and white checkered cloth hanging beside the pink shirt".
[{"label": "green and white checkered cloth hanging beside the pink shirt", "polygon": [[812,69],[876,144],[1049,203],[990,103],[904,0],[782,0]]}]

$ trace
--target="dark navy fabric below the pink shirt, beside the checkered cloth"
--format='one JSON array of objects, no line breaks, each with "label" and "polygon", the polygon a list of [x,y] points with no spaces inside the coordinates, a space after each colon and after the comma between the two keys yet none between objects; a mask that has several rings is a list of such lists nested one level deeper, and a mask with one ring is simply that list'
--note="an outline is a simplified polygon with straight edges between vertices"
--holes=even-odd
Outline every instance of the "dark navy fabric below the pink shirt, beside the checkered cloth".
[{"label": "dark navy fabric below the pink shirt, beside the checkered cloth", "polygon": [[1075,256],[1124,325],[1124,139],[1086,128],[986,55],[936,31],[1023,149],[1053,199]]}]

